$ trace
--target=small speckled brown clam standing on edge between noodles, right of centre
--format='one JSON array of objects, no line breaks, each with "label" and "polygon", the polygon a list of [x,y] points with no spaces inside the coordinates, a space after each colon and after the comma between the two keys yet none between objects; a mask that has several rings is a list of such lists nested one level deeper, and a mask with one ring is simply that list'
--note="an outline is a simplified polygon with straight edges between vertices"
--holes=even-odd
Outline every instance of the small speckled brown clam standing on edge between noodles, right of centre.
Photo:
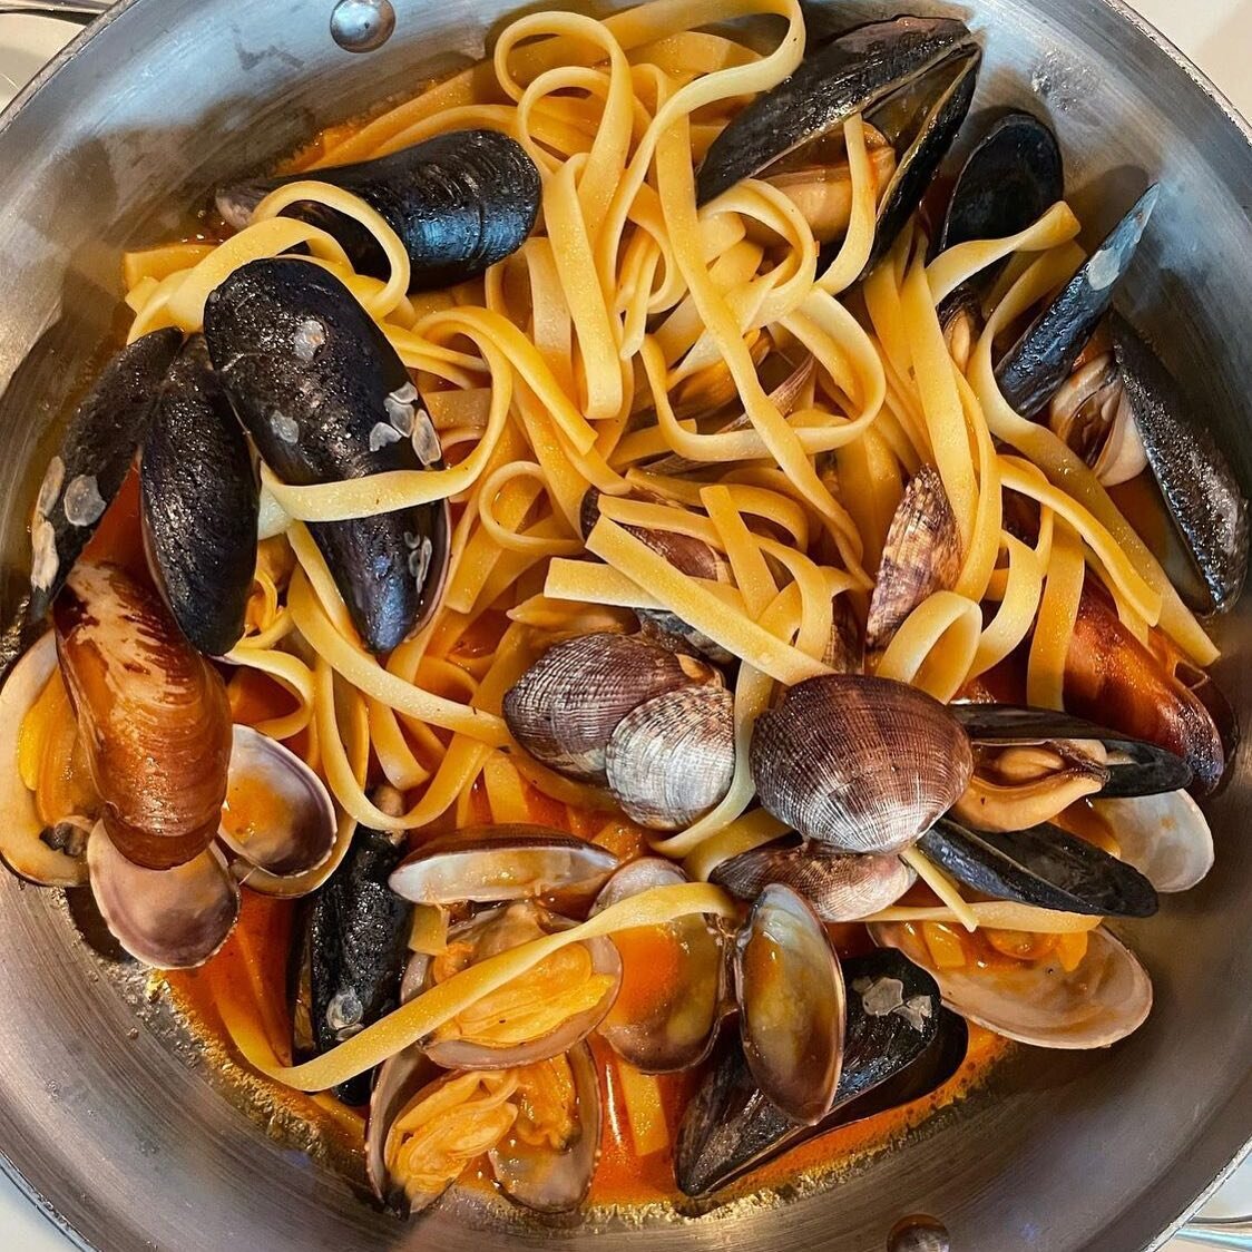
[{"label": "small speckled brown clam standing on edge between noodles, right of centre", "polygon": [[886,532],[869,602],[866,647],[886,647],[909,613],[935,591],[954,587],[959,573],[957,515],[939,471],[924,464],[904,488]]}]

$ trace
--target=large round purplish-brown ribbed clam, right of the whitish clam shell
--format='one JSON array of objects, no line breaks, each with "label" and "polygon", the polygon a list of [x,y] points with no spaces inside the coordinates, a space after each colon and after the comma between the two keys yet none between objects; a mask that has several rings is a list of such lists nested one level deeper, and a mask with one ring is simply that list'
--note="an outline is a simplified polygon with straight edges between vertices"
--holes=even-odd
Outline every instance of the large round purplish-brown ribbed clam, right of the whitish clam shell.
[{"label": "large round purplish-brown ribbed clam, right of the whitish clam shell", "polygon": [[969,739],[936,700],[886,679],[838,674],[791,687],[751,744],[761,804],[836,851],[908,848],[960,798]]}]

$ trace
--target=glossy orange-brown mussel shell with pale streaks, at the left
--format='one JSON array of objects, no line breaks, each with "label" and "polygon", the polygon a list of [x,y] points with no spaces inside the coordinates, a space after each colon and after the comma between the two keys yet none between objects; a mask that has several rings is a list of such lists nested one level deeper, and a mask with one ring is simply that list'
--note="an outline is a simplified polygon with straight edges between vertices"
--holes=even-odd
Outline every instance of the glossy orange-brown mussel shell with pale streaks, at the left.
[{"label": "glossy orange-brown mussel shell with pale streaks, at the left", "polygon": [[222,677],[160,598],[116,566],[80,562],[53,620],[109,839],[149,869],[199,856],[227,795]]}]

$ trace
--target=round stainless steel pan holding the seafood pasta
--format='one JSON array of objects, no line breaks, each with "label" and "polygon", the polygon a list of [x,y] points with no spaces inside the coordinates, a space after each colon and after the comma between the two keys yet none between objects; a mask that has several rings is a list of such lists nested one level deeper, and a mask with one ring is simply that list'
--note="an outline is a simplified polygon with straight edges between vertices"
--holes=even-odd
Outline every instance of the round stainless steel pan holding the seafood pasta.
[{"label": "round stainless steel pan holding the seafood pasta", "polygon": [[[397,0],[368,58],[329,38],[327,0],[130,0],[0,119],[0,597],[28,561],[30,466],[108,339],[123,248],[168,237],[228,174],[419,70],[477,56],[513,0]],[[934,5],[901,3],[898,8]],[[885,5],[815,5],[850,24]],[[1164,194],[1128,300],[1252,483],[1252,146],[1213,89],[1116,0],[972,0],[982,105],[1050,114],[1093,232],[1151,179]],[[1252,709],[1252,602],[1222,622],[1219,679]],[[106,1252],[736,1247],[878,1252],[905,1212],[958,1252],[1154,1247],[1252,1133],[1252,779],[1212,808],[1217,871],[1128,926],[1157,987],[1147,1028],[1108,1053],[1023,1050],[989,1093],[833,1187],[699,1221],[485,1233],[441,1213],[404,1227],[267,1138],[133,980],[109,975],[49,893],[0,875],[0,1151],[84,1244]],[[126,1002],[126,995],[134,1003]],[[136,1023],[136,1005],[154,1028]],[[138,1028],[136,1028],[138,1027]]]}]

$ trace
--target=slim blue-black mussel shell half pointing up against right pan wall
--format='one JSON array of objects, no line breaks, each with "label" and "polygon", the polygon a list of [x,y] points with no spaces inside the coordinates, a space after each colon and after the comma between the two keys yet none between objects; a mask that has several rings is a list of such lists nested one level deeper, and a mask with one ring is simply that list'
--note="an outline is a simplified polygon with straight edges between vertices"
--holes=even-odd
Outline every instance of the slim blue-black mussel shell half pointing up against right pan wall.
[{"label": "slim blue-black mussel shell half pointing up against right pan wall", "polygon": [[1092,332],[1108,313],[1118,280],[1134,259],[1158,194],[1157,185],[1143,193],[995,367],[995,379],[1004,398],[1023,417],[1034,417],[1052,399],[1069,377]]}]

